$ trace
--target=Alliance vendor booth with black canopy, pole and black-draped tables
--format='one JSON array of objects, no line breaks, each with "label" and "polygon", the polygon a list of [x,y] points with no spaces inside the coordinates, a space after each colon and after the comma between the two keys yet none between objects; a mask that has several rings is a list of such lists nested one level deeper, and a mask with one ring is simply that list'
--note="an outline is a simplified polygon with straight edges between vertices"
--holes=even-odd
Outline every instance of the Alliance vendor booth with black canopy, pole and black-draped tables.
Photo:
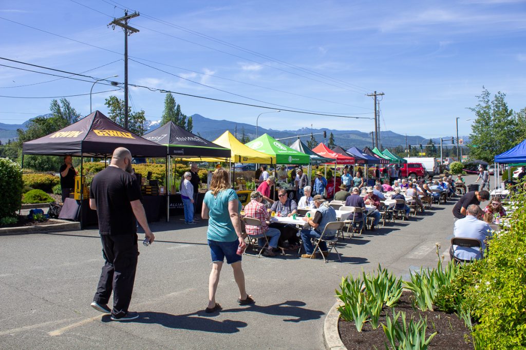
[{"label": "Alliance vendor booth with black canopy, pole and black-draped tables", "polygon": [[[213,142],[203,139],[175,124],[168,122],[159,128],[143,135],[146,140],[163,146],[167,159],[167,196],[166,198],[166,221],[171,215],[184,213],[183,199],[175,190],[175,176],[171,173],[171,162],[177,160],[189,161],[190,158],[201,160],[201,157],[212,157],[220,162],[227,162],[230,158],[230,150]],[[196,158],[197,157],[197,158]],[[201,210],[205,193],[200,192],[197,196],[196,210]]]}]

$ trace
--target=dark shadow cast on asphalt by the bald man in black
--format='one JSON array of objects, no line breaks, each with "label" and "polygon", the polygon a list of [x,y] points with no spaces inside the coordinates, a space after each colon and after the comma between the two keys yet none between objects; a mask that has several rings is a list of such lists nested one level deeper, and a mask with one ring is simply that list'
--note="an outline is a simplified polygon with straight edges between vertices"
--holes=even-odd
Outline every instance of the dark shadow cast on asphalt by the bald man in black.
[{"label": "dark shadow cast on asphalt by the bald man in black", "polygon": [[[205,312],[203,311],[203,314]],[[103,322],[110,321],[109,315],[103,316]],[[139,313],[135,323],[159,324],[167,328],[179,330],[202,331],[211,333],[237,333],[239,328],[248,324],[241,321],[223,320],[215,321],[206,317],[199,317],[197,313],[185,315],[171,315],[164,312],[146,311]]]}]

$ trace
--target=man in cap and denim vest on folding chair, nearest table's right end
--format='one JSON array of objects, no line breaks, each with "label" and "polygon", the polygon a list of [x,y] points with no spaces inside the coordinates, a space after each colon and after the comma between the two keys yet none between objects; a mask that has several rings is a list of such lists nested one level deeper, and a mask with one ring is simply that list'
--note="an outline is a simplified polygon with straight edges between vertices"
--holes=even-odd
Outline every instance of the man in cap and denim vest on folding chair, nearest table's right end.
[{"label": "man in cap and denim vest on folding chair, nearest table's right end", "polygon": [[[304,217],[303,220],[307,221],[304,228],[301,230],[301,240],[305,248],[305,254],[302,254],[302,258],[316,259],[316,252],[314,251],[315,246],[312,244],[311,238],[320,238],[325,226],[329,222],[336,221],[336,210],[329,206],[329,202],[325,200],[321,195],[316,195],[313,198],[314,205],[318,210],[314,217]],[[336,236],[336,230],[330,230],[325,232],[324,239],[331,239]],[[324,241],[320,242],[321,253],[324,257],[327,257],[329,252],[327,251],[327,243]]]}]

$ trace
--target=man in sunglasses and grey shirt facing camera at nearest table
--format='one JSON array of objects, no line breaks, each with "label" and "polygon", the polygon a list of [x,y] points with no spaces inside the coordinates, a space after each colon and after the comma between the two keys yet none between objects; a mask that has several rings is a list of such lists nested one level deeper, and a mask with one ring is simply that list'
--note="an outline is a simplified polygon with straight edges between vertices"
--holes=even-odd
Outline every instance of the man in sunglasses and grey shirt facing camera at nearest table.
[{"label": "man in sunglasses and grey shirt facing camera at nearest table", "polygon": [[[272,207],[270,207],[270,211],[274,211],[277,216],[281,217],[291,217],[292,215],[296,214],[297,205],[296,202],[290,198],[287,197],[287,191],[285,189],[280,189],[278,191],[278,200],[272,204]],[[296,235],[298,233],[298,230],[296,229],[295,225],[285,225],[280,224],[279,222],[272,222],[269,227],[277,228],[281,235],[279,236],[278,245],[280,247],[290,249],[298,249],[298,243],[299,239]],[[288,242],[285,242],[288,241]]]}]

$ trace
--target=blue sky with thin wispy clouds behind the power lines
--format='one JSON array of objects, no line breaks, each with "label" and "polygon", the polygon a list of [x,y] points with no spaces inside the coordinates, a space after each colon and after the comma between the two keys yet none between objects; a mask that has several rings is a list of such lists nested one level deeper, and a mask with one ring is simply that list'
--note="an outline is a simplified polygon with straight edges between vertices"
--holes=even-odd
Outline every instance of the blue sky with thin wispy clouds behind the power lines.
[{"label": "blue sky with thin wispy clouds behind the power lines", "polygon": [[[467,107],[477,104],[482,86],[492,94],[507,93],[514,110],[526,106],[524,1],[3,0],[0,56],[77,73],[89,70],[85,74],[96,78],[119,75],[112,79],[123,82],[124,34],[107,24],[122,16],[124,7],[141,14],[130,21],[140,30],[129,37],[130,58],[169,72],[129,61],[129,82],[134,84],[276,109],[282,105],[369,118],[373,102],[366,94],[377,90],[385,93],[381,128],[424,137],[452,134],[457,116],[459,133],[469,134],[471,122],[466,119],[473,115]],[[4,60],[0,64],[34,69]],[[53,79],[0,67],[0,95],[65,96],[87,94],[92,87],[69,79],[46,82]],[[97,85],[93,91],[110,89]],[[94,94],[93,109],[106,112],[104,99],[110,94],[124,97],[123,90]],[[163,93],[131,88],[130,95],[134,110],[145,110],[147,119],[160,119]],[[213,119],[255,124],[259,113],[269,111],[175,98],[187,115]],[[68,99],[78,112],[89,113],[89,95]],[[22,113],[46,113],[49,103],[0,97],[0,122],[18,123],[32,116]],[[284,111],[264,114],[259,124],[288,130],[310,124],[373,130],[368,119]]]}]

